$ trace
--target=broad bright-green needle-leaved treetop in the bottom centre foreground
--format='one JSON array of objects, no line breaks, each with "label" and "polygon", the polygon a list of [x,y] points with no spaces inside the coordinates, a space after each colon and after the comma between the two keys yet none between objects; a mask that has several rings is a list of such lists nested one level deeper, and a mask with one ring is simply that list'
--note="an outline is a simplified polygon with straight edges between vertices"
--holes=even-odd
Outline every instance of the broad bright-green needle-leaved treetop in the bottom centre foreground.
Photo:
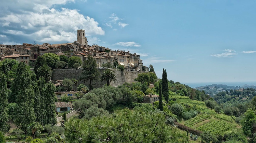
[{"label": "broad bright-green needle-leaved treetop in the bottom centre foreground", "polygon": [[165,121],[162,112],[123,109],[111,117],[71,119],[65,124],[65,136],[68,142],[74,143],[178,142],[178,129]]}]

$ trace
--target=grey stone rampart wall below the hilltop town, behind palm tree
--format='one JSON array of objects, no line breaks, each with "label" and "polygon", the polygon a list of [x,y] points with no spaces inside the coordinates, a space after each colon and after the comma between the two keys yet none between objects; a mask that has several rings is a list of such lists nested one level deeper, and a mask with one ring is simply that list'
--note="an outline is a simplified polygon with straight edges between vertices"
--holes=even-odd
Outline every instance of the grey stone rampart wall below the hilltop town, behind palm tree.
[{"label": "grey stone rampart wall below the hilltop town, behind palm tree", "polygon": [[[94,88],[100,88],[103,87],[106,82],[101,82],[100,77],[104,69],[98,69],[100,72],[100,76],[97,81],[92,81],[92,86]],[[125,82],[132,83],[135,82],[134,79],[138,77],[139,73],[144,73],[144,72],[130,72],[130,71],[120,71],[118,69],[111,69],[115,71],[115,82],[110,82],[111,86],[117,87],[118,85],[123,85]],[[77,85],[83,83],[83,81],[80,81],[80,77],[82,73],[82,69],[54,69],[52,70],[52,77],[51,80],[63,80],[64,78],[69,78],[69,79],[77,79],[79,82]],[[86,83],[83,83],[85,85],[89,85],[89,81]]]}]

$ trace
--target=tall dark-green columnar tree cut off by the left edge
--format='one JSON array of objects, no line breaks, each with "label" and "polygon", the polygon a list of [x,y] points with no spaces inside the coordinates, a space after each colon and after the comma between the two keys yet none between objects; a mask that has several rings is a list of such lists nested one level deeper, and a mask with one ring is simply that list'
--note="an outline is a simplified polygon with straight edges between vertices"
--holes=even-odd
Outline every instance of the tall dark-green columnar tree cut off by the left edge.
[{"label": "tall dark-green columnar tree cut off by the left edge", "polygon": [[7,89],[7,78],[6,75],[0,71],[0,131],[8,132],[9,125],[8,125],[8,114],[7,114],[7,96],[8,96],[8,89]]}]

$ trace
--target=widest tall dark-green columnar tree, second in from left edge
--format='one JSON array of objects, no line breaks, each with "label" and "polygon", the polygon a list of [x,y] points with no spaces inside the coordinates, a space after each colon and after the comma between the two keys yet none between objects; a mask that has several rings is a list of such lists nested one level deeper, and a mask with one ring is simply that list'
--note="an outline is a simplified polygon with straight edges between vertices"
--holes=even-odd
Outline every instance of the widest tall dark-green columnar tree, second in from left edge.
[{"label": "widest tall dark-green columnar tree, second in from left edge", "polygon": [[15,82],[12,84],[12,92],[17,91],[17,106],[15,107],[14,123],[21,130],[25,131],[27,125],[36,119],[34,113],[35,85],[33,85],[33,83],[36,81],[36,76],[34,73],[29,73],[29,71],[26,69],[26,65],[21,62],[18,65],[17,77],[14,80]]}]

